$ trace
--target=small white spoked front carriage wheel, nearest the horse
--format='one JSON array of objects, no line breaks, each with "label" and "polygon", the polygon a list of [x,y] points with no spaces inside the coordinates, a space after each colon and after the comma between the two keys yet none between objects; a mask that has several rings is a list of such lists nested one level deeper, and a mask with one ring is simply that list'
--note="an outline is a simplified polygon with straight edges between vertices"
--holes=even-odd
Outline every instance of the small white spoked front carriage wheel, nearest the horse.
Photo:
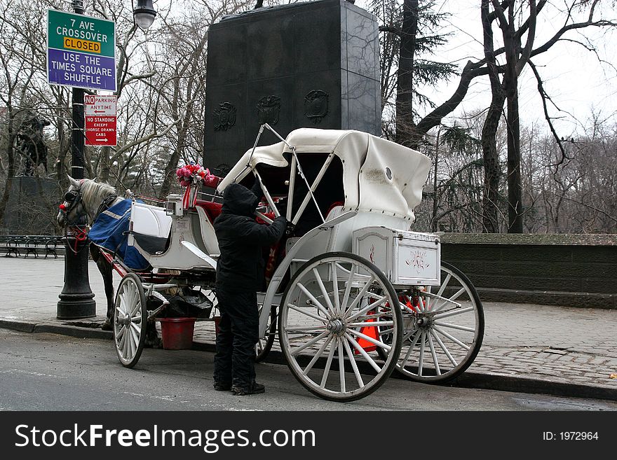
[{"label": "small white spoked front carriage wheel, nearest the horse", "polygon": [[122,365],[132,368],[139,361],[146,340],[148,311],[140,278],[126,274],[116,293],[114,308],[114,342]]}]

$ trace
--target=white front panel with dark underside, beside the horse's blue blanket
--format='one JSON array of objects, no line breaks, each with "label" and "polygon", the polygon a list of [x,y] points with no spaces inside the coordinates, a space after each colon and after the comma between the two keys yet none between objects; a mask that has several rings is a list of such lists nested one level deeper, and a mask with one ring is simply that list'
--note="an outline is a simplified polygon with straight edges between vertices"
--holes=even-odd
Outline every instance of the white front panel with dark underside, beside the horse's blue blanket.
[{"label": "white front panel with dark underside, beside the horse's blue blanket", "polygon": [[165,208],[133,202],[130,231],[137,244],[149,254],[163,253],[168,246],[171,217]]}]

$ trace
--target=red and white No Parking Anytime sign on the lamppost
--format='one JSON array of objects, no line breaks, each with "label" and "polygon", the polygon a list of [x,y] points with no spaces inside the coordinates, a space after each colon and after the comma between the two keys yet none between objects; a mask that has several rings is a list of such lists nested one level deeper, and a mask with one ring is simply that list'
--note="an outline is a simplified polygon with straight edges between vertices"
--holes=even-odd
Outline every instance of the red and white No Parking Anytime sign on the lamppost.
[{"label": "red and white No Parking Anytime sign on the lamppost", "polygon": [[84,95],[86,145],[116,145],[116,96]]}]

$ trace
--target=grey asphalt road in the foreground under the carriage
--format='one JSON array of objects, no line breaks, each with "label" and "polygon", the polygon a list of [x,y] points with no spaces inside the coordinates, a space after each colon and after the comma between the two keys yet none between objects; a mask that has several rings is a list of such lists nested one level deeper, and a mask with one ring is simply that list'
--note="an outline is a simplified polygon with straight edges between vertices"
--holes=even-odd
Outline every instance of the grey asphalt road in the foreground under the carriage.
[{"label": "grey asphalt road in the foreground under the carriage", "polygon": [[0,330],[0,410],[617,410],[617,402],[452,388],[388,379],[353,403],[317,398],[286,366],[257,365],[266,393],[212,389],[209,352],[146,349],[123,368],[109,340]]}]

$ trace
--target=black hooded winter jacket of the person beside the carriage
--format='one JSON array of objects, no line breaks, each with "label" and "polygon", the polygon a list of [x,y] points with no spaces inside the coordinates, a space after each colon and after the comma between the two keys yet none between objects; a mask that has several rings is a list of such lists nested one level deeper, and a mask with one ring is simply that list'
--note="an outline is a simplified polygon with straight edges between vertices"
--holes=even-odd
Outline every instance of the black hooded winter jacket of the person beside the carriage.
[{"label": "black hooded winter jacket of the person beside the carriage", "polygon": [[271,225],[255,221],[259,198],[238,183],[223,193],[221,214],[214,227],[221,256],[217,261],[217,283],[225,291],[259,291],[264,281],[263,246],[276,243],[285,232],[287,219],[274,219]]}]

